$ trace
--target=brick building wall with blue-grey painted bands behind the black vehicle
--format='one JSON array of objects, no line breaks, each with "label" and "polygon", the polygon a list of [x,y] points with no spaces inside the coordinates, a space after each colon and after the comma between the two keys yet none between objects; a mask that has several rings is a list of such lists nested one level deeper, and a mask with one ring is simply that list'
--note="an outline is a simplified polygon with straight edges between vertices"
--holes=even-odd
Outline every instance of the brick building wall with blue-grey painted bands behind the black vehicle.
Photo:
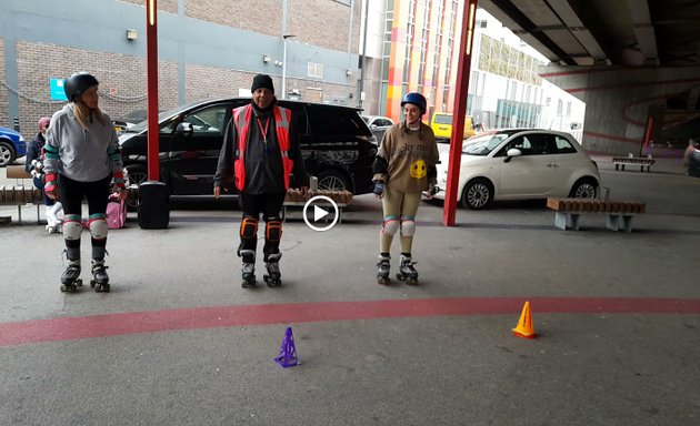
[{"label": "brick building wall with blue-grey painted bands behind the black vehicle", "polygon": [[[100,105],[113,119],[144,109],[144,6],[146,0],[2,0],[0,125],[18,123],[26,136],[32,134],[40,116],[64,103],[52,95],[51,81],[77,71],[98,78]],[[280,98],[354,104],[361,1],[157,6],[160,109],[250,95],[257,73],[272,77]]]}]

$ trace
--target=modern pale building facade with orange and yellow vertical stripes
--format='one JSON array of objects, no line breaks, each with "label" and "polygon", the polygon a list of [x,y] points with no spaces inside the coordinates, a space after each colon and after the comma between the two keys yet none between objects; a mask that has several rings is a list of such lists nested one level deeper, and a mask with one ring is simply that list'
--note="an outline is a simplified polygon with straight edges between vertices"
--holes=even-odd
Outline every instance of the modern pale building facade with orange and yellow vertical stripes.
[{"label": "modern pale building facade with orange and yellow vertical stripes", "polygon": [[[366,111],[401,119],[409,91],[428,100],[428,115],[452,112],[463,0],[384,0],[364,11]],[[377,40],[380,39],[380,42]],[[547,60],[486,11],[477,12],[467,113],[484,129],[544,128],[581,141],[586,104],[538,75]],[[367,65],[369,64],[369,65]]]}]

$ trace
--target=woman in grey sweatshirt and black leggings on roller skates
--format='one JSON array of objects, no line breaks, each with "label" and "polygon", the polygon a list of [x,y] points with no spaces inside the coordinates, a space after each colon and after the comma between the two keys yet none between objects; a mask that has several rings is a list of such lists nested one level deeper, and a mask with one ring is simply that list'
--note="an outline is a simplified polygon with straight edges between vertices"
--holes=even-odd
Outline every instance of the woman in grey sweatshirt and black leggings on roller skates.
[{"label": "woman in grey sweatshirt and black leggings on roller skates", "polygon": [[98,106],[98,81],[78,72],[63,83],[69,103],[51,118],[44,145],[44,192],[63,204],[63,240],[68,267],[61,275],[61,292],[73,293],[80,280],[82,199],[88,200],[92,280],[97,292],[109,292],[104,265],[107,202],[114,191],[124,200],[127,191],[117,132]]}]

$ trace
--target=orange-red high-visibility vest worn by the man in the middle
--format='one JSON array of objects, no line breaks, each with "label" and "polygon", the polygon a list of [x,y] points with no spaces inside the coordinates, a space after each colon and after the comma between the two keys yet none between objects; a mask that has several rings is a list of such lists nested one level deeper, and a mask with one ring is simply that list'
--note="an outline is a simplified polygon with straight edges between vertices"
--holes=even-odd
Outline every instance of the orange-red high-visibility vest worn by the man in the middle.
[{"label": "orange-red high-visibility vest worn by the man in the middle", "polygon": [[[277,133],[277,144],[282,153],[282,170],[284,175],[284,189],[289,190],[289,176],[291,175],[294,162],[289,158],[289,123],[291,122],[291,111],[286,108],[274,106],[274,130]],[[236,160],[233,161],[233,174],[236,187],[243,191],[246,187],[246,145],[248,144],[248,131],[250,129],[250,116],[252,106],[239,106],[233,109],[233,125],[238,134],[236,149]]]}]

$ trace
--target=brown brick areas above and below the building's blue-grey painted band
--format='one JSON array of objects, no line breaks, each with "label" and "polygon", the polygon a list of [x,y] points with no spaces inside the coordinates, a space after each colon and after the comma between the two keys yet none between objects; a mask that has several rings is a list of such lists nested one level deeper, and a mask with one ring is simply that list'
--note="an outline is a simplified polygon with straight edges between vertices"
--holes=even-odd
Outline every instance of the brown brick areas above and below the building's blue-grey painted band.
[{"label": "brown brick areas above and below the building's blue-grey painted band", "polygon": [[[143,0],[121,0],[143,6]],[[288,0],[289,33],[297,36],[294,41],[347,51],[350,8],[333,0]],[[236,8],[223,4],[234,3]],[[359,2],[358,2],[359,3]],[[159,0],[159,10],[177,13],[178,0]],[[228,24],[244,30],[279,36],[281,33],[281,1],[236,1],[184,0],[188,17]],[[352,51],[359,42],[361,8],[354,8]],[[6,82],[4,39],[0,39],[0,82]],[[103,51],[88,51],[68,48],[49,42],[17,41],[17,73],[19,115],[22,133],[31,138],[37,120],[51,115],[63,106],[63,102],[51,101],[49,81],[51,78],[67,78],[77,71],[88,71],[100,81],[100,106],[112,119],[132,110],[144,109],[146,58]],[[178,105],[178,67],[172,61],[159,61],[159,108]],[[250,88],[254,72],[233,71],[224,68],[186,64],[186,101],[208,97],[238,95],[239,88]],[[276,70],[278,73],[280,70]],[[278,93],[281,91],[280,77],[273,77]],[[322,90],[308,89],[320,88]],[[312,79],[289,79],[288,89],[297,89],[304,100],[347,103],[348,93],[354,89],[343,84],[326,84]],[[350,103],[353,101],[350,100]],[[0,125],[12,126],[9,110],[8,89],[0,83]]]}]

